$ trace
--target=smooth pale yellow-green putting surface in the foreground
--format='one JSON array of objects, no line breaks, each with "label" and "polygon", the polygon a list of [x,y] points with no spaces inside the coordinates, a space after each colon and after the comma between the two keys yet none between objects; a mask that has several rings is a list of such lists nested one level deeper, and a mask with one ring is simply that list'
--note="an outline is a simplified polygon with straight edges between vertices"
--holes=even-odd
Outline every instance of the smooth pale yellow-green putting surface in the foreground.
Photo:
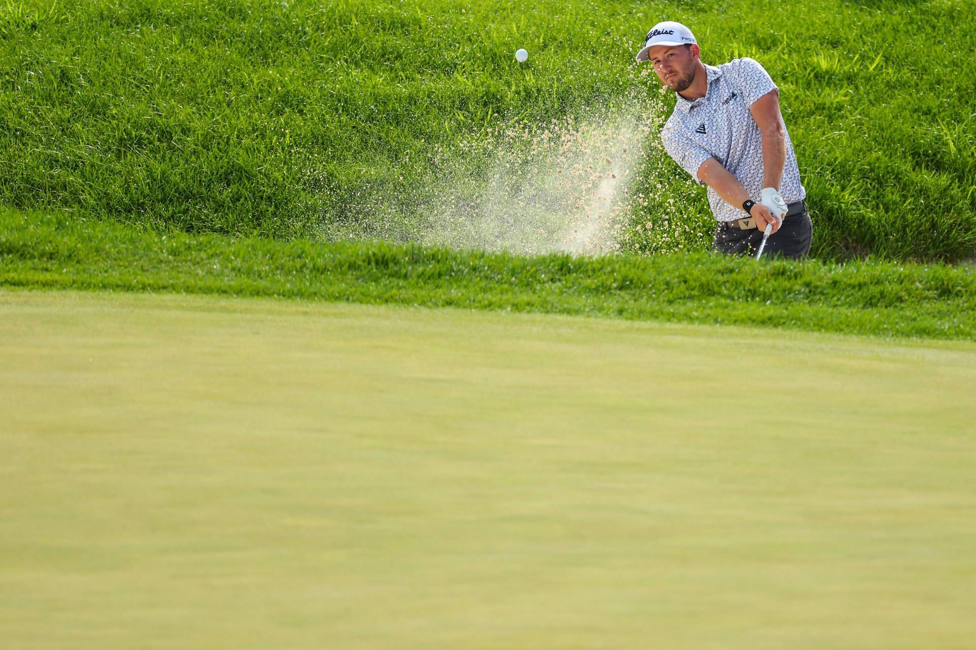
[{"label": "smooth pale yellow-green putting surface in the foreground", "polygon": [[976,345],[0,292],[0,647],[971,648]]}]

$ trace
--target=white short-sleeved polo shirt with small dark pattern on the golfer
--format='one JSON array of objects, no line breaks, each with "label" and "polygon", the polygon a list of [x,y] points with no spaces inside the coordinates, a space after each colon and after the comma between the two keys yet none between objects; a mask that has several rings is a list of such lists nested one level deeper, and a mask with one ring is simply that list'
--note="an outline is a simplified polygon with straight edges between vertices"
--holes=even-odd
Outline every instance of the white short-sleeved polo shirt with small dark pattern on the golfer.
[{"label": "white short-sleeved polo shirt with small dark pattern on the golfer", "polygon": [[[762,193],[762,134],[752,118],[752,102],[779,90],[766,70],[752,59],[736,59],[722,65],[706,65],[709,90],[705,97],[689,102],[676,95],[671,117],[661,140],[671,158],[695,181],[698,169],[709,158],[732,172],[753,201]],[[786,127],[784,126],[784,132]],[[783,166],[780,194],[789,203],[806,198],[799,180],[793,142],[786,133],[787,160]],[[746,217],[742,206],[725,202],[709,187],[709,205],[719,222]]]}]

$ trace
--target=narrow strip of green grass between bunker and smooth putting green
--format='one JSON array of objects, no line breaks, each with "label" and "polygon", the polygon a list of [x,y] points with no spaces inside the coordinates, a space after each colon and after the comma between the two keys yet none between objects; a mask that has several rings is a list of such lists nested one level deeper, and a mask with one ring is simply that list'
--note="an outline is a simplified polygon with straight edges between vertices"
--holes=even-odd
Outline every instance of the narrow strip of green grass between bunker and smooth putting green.
[{"label": "narrow strip of green grass between bunker and smooth putting green", "polygon": [[518,257],[158,234],[0,212],[0,286],[278,296],[976,340],[976,268],[686,256]]}]

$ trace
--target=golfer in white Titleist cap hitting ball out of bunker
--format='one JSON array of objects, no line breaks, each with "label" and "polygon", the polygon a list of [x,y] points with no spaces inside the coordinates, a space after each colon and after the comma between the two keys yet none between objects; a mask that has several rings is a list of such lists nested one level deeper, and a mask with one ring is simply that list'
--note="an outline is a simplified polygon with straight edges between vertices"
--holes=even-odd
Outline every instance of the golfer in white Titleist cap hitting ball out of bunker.
[{"label": "golfer in white Titleist cap hitting ball out of bunker", "polygon": [[672,21],[651,28],[637,61],[650,61],[675,93],[661,140],[709,188],[718,222],[712,251],[750,255],[772,223],[766,253],[805,258],[813,233],[806,190],[769,74],[752,59],[704,64],[694,34]]}]

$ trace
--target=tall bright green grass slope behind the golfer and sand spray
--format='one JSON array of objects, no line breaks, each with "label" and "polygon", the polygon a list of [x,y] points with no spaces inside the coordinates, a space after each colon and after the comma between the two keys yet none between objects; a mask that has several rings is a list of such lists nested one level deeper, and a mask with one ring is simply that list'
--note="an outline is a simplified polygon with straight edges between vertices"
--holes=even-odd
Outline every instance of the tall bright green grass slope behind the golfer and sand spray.
[{"label": "tall bright green grass slope behind the golfer and sand spray", "polygon": [[[158,231],[418,241],[442,219],[431,206],[446,190],[461,200],[490,185],[508,152],[493,162],[484,150],[506,143],[507,128],[626,114],[651,129],[625,197],[624,249],[702,250],[704,192],[653,146],[671,99],[632,62],[647,28],[670,18],[695,30],[707,62],[751,56],[779,83],[817,218],[815,256],[972,259],[969,9],[8,0],[0,205]],[[525,65],[512,58],[518,47]]]}]

